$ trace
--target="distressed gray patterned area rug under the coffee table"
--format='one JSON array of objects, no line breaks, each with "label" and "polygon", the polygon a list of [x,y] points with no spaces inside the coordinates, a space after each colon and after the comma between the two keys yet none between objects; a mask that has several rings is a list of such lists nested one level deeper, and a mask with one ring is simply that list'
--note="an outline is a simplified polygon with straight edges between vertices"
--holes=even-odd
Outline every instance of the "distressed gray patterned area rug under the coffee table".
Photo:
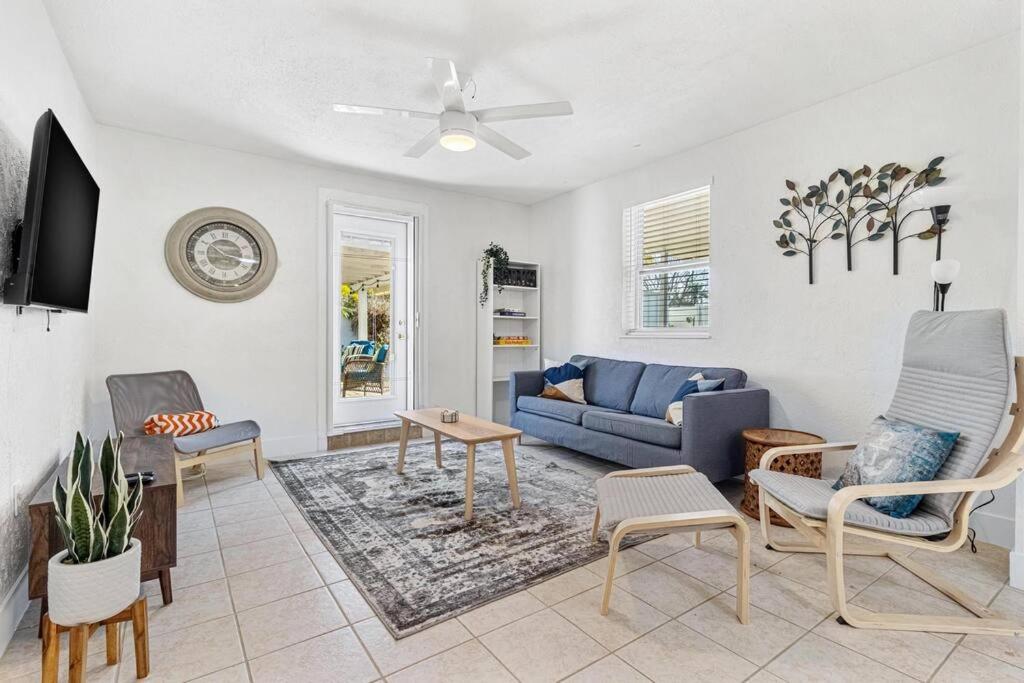
[{"label": "distressed gray patterned area rug under the coffee table", "polygon": [[[476,450],[473,519],[463,518],[466,454],[445,441],[274,463],[282,484],[395,638],[607,555],[592,543],[593,480],[516,454],[512,508],[502,450]],[[636,539],[633,543],[641,540]],[[631,544],[632,545],[632,544]]]}]

